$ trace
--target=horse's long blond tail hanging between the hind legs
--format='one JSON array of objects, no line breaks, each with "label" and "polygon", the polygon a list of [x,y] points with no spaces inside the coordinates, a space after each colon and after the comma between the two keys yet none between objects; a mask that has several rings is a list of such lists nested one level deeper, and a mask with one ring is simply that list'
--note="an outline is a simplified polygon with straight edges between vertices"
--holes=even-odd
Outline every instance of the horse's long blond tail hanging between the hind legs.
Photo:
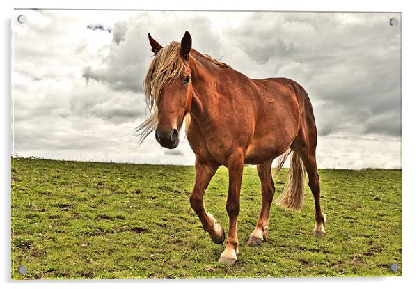
[{"label": "horse's long blond tail hanging between the hind legs", "polygon": [[304,201],[304,187],[306,187],[306,169],[303,161],[297,153],[288,150],[278,159],[275,175],[278,175],[288,155],[290,157],[290,171],[288,176],[288,185],[284,192],[276,198],[274,203],[282,205],[287,210],[300,212]]}]

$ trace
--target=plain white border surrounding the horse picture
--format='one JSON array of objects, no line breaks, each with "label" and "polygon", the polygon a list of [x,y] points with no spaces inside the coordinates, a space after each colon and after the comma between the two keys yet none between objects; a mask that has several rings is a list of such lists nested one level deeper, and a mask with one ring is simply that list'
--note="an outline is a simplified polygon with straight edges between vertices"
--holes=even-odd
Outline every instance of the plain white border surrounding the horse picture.
[{"label": "plain white border surrounding the horse picture", "polygon": [[[10,16],[12,8],[83,8],[83,9],[141,9],[141,10],[303,10],[303,11],[377,11],[403,13],[403,277],[395,278],[345,278],[345,279],[205,279],[205,280],[134,280],[134,281],[76,281],[67,282],[15,282],[10,281]],[[255,288],[272,286],[278,288],[353,288],[379,286],[380,288],[404,288],[418,283],[418,215],[414,214],[419,205],[418,178],[418,10],[414,1],[1,1],[1,269],[0,281],[3,288],[70,288],[89,286],[90,288],[141,288],[148,286],[195,288]],[[80,282],[80,281],[79,281]],[[417,285],[416,285],[417,286]]]}]

